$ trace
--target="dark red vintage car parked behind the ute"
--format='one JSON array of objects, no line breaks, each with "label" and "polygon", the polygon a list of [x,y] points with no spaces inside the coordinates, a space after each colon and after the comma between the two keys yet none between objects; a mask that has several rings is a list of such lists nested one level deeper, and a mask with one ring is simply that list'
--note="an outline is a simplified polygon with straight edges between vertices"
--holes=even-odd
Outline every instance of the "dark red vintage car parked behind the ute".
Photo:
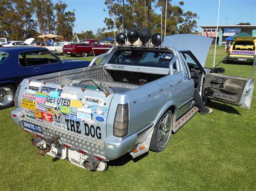
[{"label": "dark red vintage car parked behind the ute", "polygon": [[[64,45],[63,52],[64,54],[70,54],[71,56],[81,55],[86,57],[87,55],[95,53],[95,55],[103,54],[112,46],[110,45],[100,45],[98,40],[83,40],[80,44],[73,45]],[[93,51],[92,51],[93,48]]]}]

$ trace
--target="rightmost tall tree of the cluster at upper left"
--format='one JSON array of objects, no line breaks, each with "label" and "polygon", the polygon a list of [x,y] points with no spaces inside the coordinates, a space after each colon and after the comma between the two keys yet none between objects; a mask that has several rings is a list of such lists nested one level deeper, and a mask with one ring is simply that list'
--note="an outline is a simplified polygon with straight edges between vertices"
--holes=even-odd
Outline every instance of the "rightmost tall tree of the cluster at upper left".
[{"label": "rightmost tall tree of the cluster at upper left", "polygon": [[56,10],[56,31],[57,34],[63,36],[64,39],[72,39],[73,27],[75,23],[75,10],[65,12],[68,7],[65,3],[58,2],[55,4]]}]

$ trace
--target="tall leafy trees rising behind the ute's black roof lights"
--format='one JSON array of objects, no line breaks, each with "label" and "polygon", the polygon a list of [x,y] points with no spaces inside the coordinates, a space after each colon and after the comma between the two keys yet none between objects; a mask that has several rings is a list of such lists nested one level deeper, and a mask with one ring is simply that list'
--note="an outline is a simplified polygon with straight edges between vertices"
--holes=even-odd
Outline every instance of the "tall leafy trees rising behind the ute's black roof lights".
[{"label": "tall leafy trees rising behind the ute's black roof lights", "polygon": [[[113,14],[116,16],[115,24],[118,32],[124,31],[123,1],[105,0],[109,12],[109,18],[104,19],[108,30],[113,30]],[[167,1],[166,34],[191,33],[197,27],[196,13],[187,11],[184,13],[181,1],[178,5],[172,5],[171,0]],[[126,0],[125,1],[125,27],[126,29],[144,29],[150,25],[153,32],[161,32],[160,14],[156,10],[163,9],[163,24],[165,23],[166,0]],[[154,7],[154,9],[153,9]],[[149,22],[149,24],[148,24]]]}]

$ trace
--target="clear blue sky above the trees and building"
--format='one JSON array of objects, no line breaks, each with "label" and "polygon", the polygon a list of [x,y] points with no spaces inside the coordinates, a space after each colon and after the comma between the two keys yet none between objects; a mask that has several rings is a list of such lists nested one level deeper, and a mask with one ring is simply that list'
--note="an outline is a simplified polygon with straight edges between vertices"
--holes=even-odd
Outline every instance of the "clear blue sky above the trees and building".
[{"label": "clear blue sky above the trees and building", "polygon": [[[52,0],[53,3],[58,0]],[[73,32],[93,31],[96,34],[98,28],[106,27],[103,22],[109,17],[104,0],[62,0],[68,5],[66,10],[75,9],[76,22]],[[180,1],[172,0],[172,5],[178,5]],[[190,10],[197,13],[199,26],[217,25],[219,0],[183,0],[181,8],[184,12]],[[251,23],[256,25],[256,0],[220,0],[219,25],[235,25],[238,23]]]}]

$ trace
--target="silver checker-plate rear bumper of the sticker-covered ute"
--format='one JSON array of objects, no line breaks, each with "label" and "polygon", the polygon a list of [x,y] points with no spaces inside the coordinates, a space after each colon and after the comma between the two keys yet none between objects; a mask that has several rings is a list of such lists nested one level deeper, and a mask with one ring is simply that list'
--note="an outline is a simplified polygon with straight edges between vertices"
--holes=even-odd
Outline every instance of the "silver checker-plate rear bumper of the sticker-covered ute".
[{"label": "silver checker-plate rear bumper of the sticker-covered ute", "polygon": [[133,134],[122,140],[113,138],[94,139],[91,137],[85,137],[75,132],[70,132],[64,129],[55,128],[51,125],[46,125],[43,122],[35,121],[25,117],[22,111],[15,109],[11,111],[14,122],[24,129],[22,121],[26,121],[32,124],[41,126],[43,133],[30,131],[34,135],[40,135],[44,139],[50,139],[53,135],[60,137],[63,144],[68,144],[71,147],[69,149],[78,151],[78,148],[82,148],[87,154],[92,156],[99,156],[105,160],[114,160],[129,152],[136,144],[137,135]]}]

